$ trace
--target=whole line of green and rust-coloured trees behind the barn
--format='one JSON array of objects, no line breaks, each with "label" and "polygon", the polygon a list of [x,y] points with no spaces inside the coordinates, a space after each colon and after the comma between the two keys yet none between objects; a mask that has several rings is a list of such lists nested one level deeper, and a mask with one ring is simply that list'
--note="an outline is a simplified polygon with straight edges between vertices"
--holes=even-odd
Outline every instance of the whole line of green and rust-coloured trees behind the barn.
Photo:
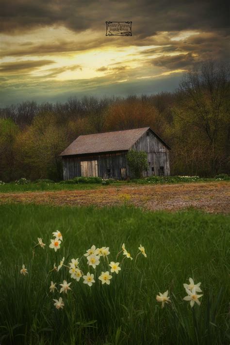
[{"label": "whole line of green and rust-coloured trees behind the barn", "polygon": [[79,135],[148,126],[172,148],[172,175],[229,174],[229,66],[194,66],[171,93],[1,108],[0,180],[61,180],[59,154]]}]

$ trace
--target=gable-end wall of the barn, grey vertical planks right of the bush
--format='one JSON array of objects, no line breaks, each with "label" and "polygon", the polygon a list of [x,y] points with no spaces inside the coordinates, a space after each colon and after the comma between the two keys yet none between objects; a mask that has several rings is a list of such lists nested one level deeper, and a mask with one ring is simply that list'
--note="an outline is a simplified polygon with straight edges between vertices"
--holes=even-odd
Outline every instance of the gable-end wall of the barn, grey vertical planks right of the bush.
[{"label": "gable-end wall of the barn, grey vertical planks right of the bush", "polygon": [[[164,176],[170,175],[169,149],[155,136],[152,131],[144,133],[132,146],[136,151],[145,151],[148,154],[148,171],[144,176],[159,176],[160,166],[164,166]],[[154,171],[152,171],[152,167]]]}]

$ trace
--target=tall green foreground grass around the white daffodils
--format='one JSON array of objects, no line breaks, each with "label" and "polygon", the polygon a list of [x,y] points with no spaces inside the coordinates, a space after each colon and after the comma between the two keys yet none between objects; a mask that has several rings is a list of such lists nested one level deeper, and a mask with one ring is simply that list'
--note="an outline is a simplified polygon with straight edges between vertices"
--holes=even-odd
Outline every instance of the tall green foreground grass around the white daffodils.
[{"label": "tall green foreground grass around the white daffodils", "polygon": [[[69,208],[37,205],[0,206],[1,344],[228,344],[229,217],[189,211],[143,212],[132,207]],[[52,231],[63,233],[61,248],[49,248]],[[37,237],[45,250],[35,248]],[[93,244],[109,246],[115,261],[122,243],[125,259],[111,284],[99,279],[90,288],[70,278],[66,267],[48,272],[65,256],[81,258]],[[137,257],[142,244],[148,255]],[[121,262],[123,255],[118,257]],[[19,273],[22,264],[29,274]],[[106,262],[96,274],[106,270]],[[91,272],[94,269],[90,269]],[[183,283],[201,281],[201,306],[191,309]],[[50,281],[72,282],[65,307],[57,310]],[[106,286],[105,286],[106,285]],[[58,285],[57,285],[58,286]],[[159,292],[169,290],[171,305],[162,309]]]}]

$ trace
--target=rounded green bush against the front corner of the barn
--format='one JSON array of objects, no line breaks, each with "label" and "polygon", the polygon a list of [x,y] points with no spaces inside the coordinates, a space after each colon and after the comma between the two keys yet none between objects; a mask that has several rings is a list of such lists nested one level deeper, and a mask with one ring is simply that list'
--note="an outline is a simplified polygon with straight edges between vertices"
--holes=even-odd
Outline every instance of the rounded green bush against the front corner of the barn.
[{"label": "rounded green bush against the front corner of the barn", "polygon": [[140,179],[143,171],[148,169],[148,155],[144,151],[130,150],[127,153],[127,162],[136,179]]}]

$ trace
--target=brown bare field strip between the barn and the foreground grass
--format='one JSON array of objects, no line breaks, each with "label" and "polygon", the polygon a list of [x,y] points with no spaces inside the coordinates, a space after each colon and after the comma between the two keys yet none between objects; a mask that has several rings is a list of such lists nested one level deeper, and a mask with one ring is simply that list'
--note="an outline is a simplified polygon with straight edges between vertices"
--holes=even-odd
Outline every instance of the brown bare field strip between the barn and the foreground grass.
[{"label": "brown bare field strip between the barn and the foreground grass", "polygon": [[124,203],[148,210],[177,211],[193,207],[210,213],[230,214],[230,183],[184,183],[108,186],[95,190],[2,193],[0,203],[113,206]]}]

